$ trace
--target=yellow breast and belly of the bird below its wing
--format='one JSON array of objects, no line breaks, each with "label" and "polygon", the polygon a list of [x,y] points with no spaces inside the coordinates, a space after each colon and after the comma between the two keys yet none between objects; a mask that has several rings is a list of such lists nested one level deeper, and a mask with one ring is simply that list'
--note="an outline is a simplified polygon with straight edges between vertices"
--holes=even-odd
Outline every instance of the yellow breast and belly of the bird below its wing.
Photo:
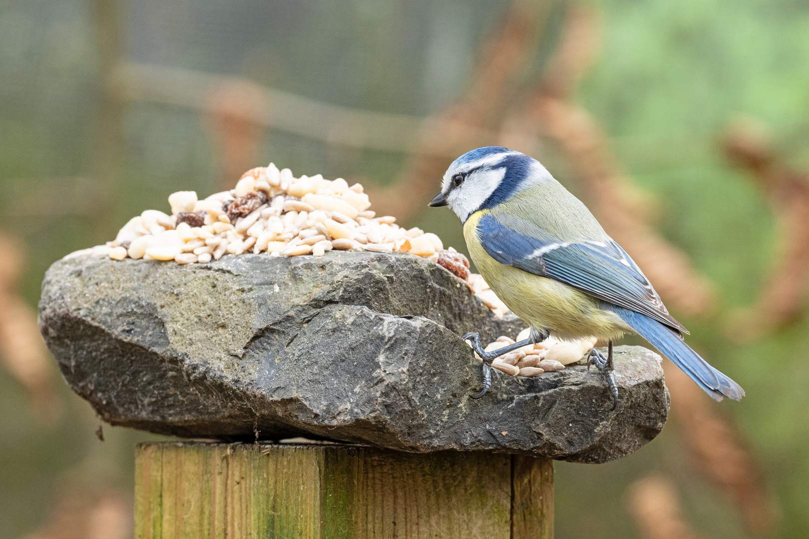
[{"label": "yellow breast and belly of the bird below its wing", "polygon": [[477,235],[477,223],[485,211],[473,213],[464,223],[464,238],[477,270],[514,314],[560,339],[595,336],[607,340],[633,332],[618,315],[601,309],[595,297],[490,257]]}]

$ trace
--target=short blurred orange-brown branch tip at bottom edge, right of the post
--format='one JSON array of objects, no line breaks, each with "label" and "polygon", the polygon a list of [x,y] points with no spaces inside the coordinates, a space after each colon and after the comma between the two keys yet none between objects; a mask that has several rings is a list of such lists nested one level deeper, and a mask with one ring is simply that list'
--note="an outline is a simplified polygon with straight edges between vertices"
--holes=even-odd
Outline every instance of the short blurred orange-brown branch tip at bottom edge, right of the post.
[{"label": "short blurred orange-brown branch tip at bottom edge, right of the post", "polygon": [[629,485],[627,505],[643,539],[698,539],[684,520],[675,486],[659,475]]}]

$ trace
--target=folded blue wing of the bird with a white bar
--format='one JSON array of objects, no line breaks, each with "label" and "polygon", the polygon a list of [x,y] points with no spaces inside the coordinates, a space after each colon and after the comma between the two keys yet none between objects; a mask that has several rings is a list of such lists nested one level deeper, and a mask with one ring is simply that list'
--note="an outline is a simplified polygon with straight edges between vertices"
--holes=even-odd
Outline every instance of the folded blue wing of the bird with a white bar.
[{"label": "folded blue wing of the bird with a white bar", "polygon": [[[637,264],[616,242],[565,242],[548,234],[534,238],[485,215],[477,224],[489,256],[524,272],[550,277],[678,331],[688,331],[671,314]],[[538,234],[540,235],[540,234]]]}]

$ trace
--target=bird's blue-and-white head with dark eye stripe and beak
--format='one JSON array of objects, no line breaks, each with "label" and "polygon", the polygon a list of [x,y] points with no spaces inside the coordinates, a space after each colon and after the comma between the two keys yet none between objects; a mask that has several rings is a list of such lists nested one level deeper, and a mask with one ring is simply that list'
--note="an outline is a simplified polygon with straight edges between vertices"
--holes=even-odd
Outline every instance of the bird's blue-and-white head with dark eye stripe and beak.
[{"label": "bird's blue-and-white head with dark eye stripe and beak", "polygon": [[465,222],[472,213],[492,208],[549,176],[540,162],[513,149],[473,149],[452,162],[430,206],[449,206]]}]

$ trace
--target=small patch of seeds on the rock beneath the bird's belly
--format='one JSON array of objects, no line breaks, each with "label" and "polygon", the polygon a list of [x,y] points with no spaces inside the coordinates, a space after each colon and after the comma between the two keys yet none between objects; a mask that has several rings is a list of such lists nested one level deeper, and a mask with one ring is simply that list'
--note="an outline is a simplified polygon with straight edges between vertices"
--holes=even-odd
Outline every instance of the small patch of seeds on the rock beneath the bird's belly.
[{"label": "small patch of seeds on the rock beneath the bird's belly", "polygon": [[[505,335],[498,337],[493,343],[489,343],[485,347],[485,352],[492,352],[498,348],[527,339],[529,331],[530,328],[520,331],[516,340]],[[595,337],[590,337],[577,341],[561,341],[554,337],[549,337],[541,343],[527,344],[507,353],[505,356],[498,357],[493,361],[492,367],[511,376],[529,378],[540,373],[561,371],[565,368],[565,365],[578,363],[578,361],[587,357],[587,354],[595,346],[596,340]],[[477,354],[475,356],[480,359]]]}]

